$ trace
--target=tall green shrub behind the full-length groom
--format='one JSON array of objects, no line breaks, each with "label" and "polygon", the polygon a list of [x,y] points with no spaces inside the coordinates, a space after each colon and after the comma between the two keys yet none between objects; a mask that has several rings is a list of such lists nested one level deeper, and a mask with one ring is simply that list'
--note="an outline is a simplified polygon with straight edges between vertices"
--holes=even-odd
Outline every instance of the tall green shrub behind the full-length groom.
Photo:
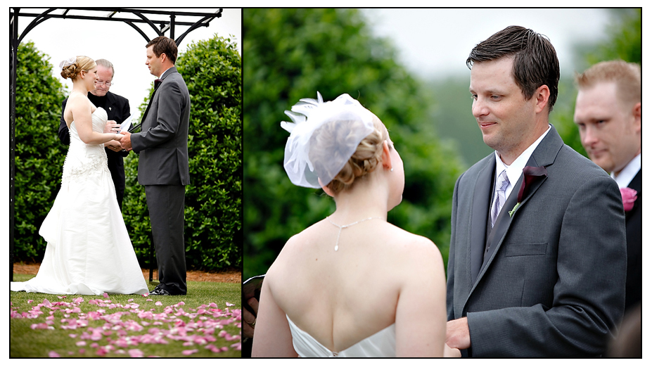
[{"label": "tall green shrub behind the full-length groom", "polygon": [[[186,186],[185,245],[188,269],[242,267],[241,56],[231,39],[191,44],[177,70],[191,96]],[[141,104],[141,118],[147,101]],[[125,160],[123,215],[136,256],[149,260],[150,223],[145,191],[137,181],[138,156]]]}]

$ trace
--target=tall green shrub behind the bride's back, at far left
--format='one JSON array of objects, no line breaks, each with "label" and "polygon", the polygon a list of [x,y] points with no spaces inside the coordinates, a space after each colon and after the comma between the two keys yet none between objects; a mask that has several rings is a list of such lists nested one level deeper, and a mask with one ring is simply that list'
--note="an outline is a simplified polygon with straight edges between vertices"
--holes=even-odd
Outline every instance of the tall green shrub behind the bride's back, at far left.
[{"label": "tall green shrub behind the bride's back, at far left", "polygon": [[43,258],[46,242],[38,231],[54,203],[68,151],[57,136],[63,86],[49,59],[33,42],[18,45],[14,261]]}]

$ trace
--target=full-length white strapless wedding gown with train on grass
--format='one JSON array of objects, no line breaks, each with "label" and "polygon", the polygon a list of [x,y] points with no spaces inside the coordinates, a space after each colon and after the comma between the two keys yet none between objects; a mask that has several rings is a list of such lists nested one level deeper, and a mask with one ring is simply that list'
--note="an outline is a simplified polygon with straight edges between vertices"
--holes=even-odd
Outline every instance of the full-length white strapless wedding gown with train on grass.
[{"label": "full-length white strapless wedding gown with train on grass", "polygon": [[[107,115],[96,108],[93,130],[103,132]],[[34,279],[12,282],[12,291],[50,294],[148,293],[147,283],[117,205],[103,144],[79,139],[70,124],[70,148],[61,189],[39,234],[47,242]]]}]

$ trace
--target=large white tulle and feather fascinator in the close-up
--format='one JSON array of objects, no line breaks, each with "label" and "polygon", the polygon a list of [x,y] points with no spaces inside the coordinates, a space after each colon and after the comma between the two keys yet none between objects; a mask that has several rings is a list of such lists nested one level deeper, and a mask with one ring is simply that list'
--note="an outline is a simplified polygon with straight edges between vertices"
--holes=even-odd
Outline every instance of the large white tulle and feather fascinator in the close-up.
[{"label": "large white tulle and feather fascinator in the close-up", "polygon": [[[293,122],[281,122],[281,127],[290,132],[283,167],[293,184],[307,188],[320,189],[328,185],[362,139],[373,132],[373,113],[349,94],[324,103],[317,91],[317,100],[300,99],[285,113]],[[323,146],[319,144],[319,136],[345,139],[331,139],[332,142]],[[328,139],[321,141],[324,140]],[[311,155],[314,146],[320,146],[320,155]]]}]

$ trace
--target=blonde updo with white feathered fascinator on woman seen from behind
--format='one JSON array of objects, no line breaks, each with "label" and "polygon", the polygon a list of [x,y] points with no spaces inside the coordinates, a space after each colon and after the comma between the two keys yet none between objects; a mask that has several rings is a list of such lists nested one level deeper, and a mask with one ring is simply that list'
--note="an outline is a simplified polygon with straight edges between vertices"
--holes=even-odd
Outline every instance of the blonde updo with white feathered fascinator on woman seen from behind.
[{"label": "blonde updo with white feathered fascinator on woman seen from behind", "polygon": [[381,162],[383,122],[348,94],[324,103],[317,92],[317,100],[303,98],[286,115],[293,122],[281,122],[290,132],[283,167],[295,185],[339,193]]}]

